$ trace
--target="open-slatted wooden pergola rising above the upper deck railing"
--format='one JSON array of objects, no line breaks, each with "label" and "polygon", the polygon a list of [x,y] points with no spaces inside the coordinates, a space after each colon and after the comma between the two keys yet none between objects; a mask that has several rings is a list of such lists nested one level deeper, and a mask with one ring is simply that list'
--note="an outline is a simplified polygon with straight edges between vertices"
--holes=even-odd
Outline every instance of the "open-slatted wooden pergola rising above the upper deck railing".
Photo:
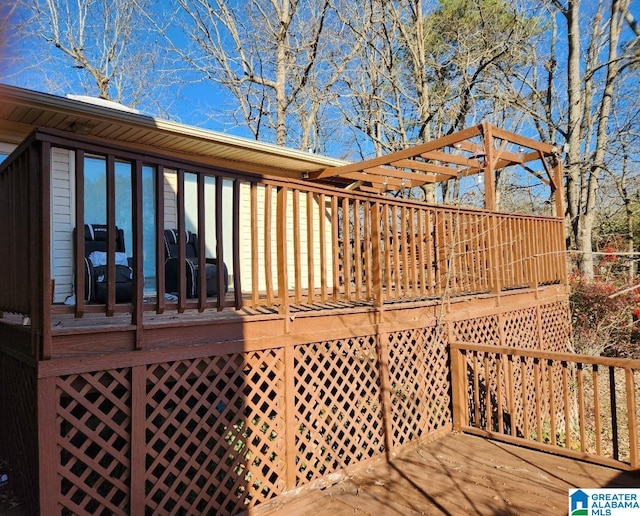
[{"label": "open-slatted wooden pergola rising above the upper deck railing", "polygon": [[[550,187],[555,213],[563,213],[562,163],[555,145],[499,129],[488,122],[437,140],[358,163],[303,174],[304,179],[340,184],[348,189],[381,194],[402,188],[482,174],[485,208],[496,209],[496,172],[520,166]],[[536,162],[542,164],[536,170]],[[540,168],[540,167],[538,167]]]}]

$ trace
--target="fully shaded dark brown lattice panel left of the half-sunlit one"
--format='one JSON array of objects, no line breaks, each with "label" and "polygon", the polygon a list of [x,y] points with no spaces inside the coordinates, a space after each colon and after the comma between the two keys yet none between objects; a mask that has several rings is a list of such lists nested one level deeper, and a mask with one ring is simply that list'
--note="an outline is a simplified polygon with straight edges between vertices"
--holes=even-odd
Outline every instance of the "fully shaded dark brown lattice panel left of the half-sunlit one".
[{"label": "fully shaded dark brown lattice panel left of the half-sunlit one", "polygon": [[129,512],[131,372],[56,380],[62,513]]}]

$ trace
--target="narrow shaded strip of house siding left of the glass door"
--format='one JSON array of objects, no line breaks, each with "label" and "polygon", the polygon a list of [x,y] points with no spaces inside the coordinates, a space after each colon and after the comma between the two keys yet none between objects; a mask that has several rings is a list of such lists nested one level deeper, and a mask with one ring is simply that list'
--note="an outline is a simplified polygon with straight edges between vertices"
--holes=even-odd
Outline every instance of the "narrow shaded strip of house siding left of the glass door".
[{"label": "narrow shaded strip of house siding left of the glass door", "polygon": [[55,280],[54,302],[73,293],[72,235],[75,227],[74,153],[51,151],[51,276]]}]

